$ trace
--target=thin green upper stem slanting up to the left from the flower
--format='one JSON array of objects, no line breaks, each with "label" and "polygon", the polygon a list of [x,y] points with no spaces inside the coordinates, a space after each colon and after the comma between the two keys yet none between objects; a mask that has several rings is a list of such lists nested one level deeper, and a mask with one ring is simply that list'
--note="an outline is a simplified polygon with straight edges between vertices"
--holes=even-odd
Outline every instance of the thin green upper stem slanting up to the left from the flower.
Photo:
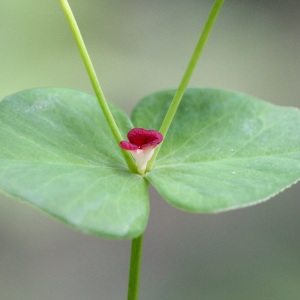
[{"label": "thin green upper stem slanting up to the left from the flower", "polygon": [[[97,97],[98,102],[101,106],[103,114],[106,118],[106,121],[107,121],[107,123],[108,123],[108,125],[111,129],[111,132],[112,132],[117,144],[119,144],[123,140],[122,135],[121,135],[121,133],[119,131],[119,128],[118,128],[118,126],[117,126],[117,124],[114,120],[114,117],[113,117],[113,115],[112,115],[112,113],[109,109],[109,106],[108,106],[108,104],[105,100],[105,97],[104,97],[104,94],[102,92],[101,86],[99,84],[99,80],[97,78],[95,69],[93,67],[92,61],[91,61],[90,56],[88,54],[88,51],[85,47],[83,38],[81,36],[80,30],[78,28],[77,22],[75,20],[75,17],[72,13],[71,8],[70,8],[70,5],[69,5],[67,0],[59,0],[59,2],[62,6],[62,9],[63,9],[66,17],[67,17],[68,22],[70,24],[70,27],[71,27],[72,33],[74,35],[74,38],[76,40],[81,58],[83,60],[85,68],[87,70],[88,76],[89,76],[90,81],[92,83],[92,86],[94,88],[96,97]],[[132,156],[130,155],[130,153],[128,151],[124,151],[123,149],[121,149],[121,151],[122,151],[122,154],[123,154],[123,156],[126,160],[126,163],[128,165],[129,170],[131,172],[137,173],[138,171],[137,171],[136,164],[135,164]]]}]

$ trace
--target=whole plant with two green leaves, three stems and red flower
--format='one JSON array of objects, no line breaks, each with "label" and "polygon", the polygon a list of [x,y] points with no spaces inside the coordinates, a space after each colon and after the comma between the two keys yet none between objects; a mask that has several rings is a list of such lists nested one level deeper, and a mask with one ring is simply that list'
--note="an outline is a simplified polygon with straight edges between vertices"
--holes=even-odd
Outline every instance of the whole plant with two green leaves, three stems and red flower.
[{"label": "whole plant with two green leaves, three stems and red flower", "polygon": [[96,97],[40,88],[4,99],[0,189],[80,231],[132,239],[128,299],[137,299],[149,184],[190,212],[269,199],[300,178],[299,111],[187,89],[223,4],[216,0],[178,89],[145,97],[130,119],[105,100],[70,7],[60,3]]}]

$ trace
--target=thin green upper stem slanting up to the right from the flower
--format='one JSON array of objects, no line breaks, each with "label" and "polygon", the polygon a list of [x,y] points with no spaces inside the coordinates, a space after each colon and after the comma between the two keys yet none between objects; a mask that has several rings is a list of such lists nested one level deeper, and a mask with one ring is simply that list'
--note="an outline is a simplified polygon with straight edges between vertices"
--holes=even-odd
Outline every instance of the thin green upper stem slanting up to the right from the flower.
[{"label": "thin green upper stem slanting up to the right from the flower", "polygon": [[[197,42],[197,45],[196,45],[195,50],[194,50],[194,52],[192,54],[192,57],[191,57],[191,59],[189,61],[189,64],[188,64],[188,66],[186,68],[186,71],[183,74],[183,77],[181,79],[179,87],[178,87],[178,89],[177,89],[177,91],[176,91],[176,93],[174,95],[174,98],[173,98],[173,100],[171,102],[169,110],[167,111],[165,119],[164,119],[164,121],[163,121],[163,123],[162,123],[162,125],[160,127],[159,131],[160,131],[160,133],[164,137],[166,136],[166,134],[167,134],[167,132],[168,132],[168,130],[170,128],[170,125],[171,125],[172,120],[174,118],[174,115],[175,115],[175,113],[177,111],[177,108],[178,108],[178,106],[180,104],[182,96],[183,96],[183,94],[184,94],[184,92],[185,92],[185,90],[187,88],[187,85],[188,85],[188,83],[189,83],[189,81],[190,81],[190,79],[191,79],[191,77],[193,75],[193,72],[194,72],[194,70],[196,68],[196,65],[197,65],[198,61],[199,61],[200,55],[201,55],[201,53],[203,51],[203,48],[204,48],[204,46],[206,44],[206,41],[207,41],[207,39],[209,37],[211,29],[212,29],[212,27],[213,27],[213,25],[214,25],[214,23],[216,21],[216,18],[217,18],[218,14],[219,14],[219,12],[221,10],[221,7],[222,7],[224,1],[225,0],[216,0],[215,3],[214,3],[214,5],[213,5],[213,7],[212,7],[212,9],[211,9],[211,11],[210,11],[210,14],[209,14],[209,16],[207,18],[207,21],[206,21],[205,26],[203,28],[203,31],[202,31],[202,33],[200,35],[200,38],[199,38],[199,40]],[[149,172],[153,168],[153,164],[155,162],[155,159],[156,159],[156,157],[158,155],[158,152],[159,152],[161,146],[162,146],[162,144],[160,144],[160,146],[154,152],[151,160],[149,161],[149,163],[147,165],[147,170],[146,171]]]}]

